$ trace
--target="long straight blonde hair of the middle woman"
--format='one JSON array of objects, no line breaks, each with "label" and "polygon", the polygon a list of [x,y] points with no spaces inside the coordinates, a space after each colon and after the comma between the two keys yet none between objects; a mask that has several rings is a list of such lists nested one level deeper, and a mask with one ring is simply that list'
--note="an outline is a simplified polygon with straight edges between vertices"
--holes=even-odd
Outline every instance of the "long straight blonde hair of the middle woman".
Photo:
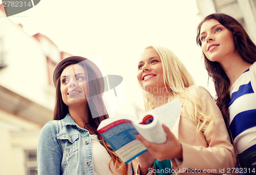
[{"label": "long straight blonde hair of the middle woman", "polygon": [[[197,126],[197,133],[207,134],[214,128],[212,116],[205,113],[200,98],[194,89],[195,82],[178,57],[166,47],[148,46],[159,54],[163,66],[163,79],[166,90],[171,89],[168,101],[178,97],[182,104],[182,116],[191,119]],[[154,108],[152,95],[143,90],[145,110]]]}]

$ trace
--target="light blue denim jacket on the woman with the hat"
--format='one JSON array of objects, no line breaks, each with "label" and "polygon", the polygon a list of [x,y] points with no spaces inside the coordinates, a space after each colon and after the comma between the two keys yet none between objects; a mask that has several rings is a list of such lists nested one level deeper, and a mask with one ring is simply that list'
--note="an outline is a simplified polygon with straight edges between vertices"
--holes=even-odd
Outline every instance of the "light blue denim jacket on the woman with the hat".
[{"label": "light blue denim jacket on the woman with the hat", "polygon": [[89,131],[67,114],[42,128],[38,140],[38,174],[93,174]]}]

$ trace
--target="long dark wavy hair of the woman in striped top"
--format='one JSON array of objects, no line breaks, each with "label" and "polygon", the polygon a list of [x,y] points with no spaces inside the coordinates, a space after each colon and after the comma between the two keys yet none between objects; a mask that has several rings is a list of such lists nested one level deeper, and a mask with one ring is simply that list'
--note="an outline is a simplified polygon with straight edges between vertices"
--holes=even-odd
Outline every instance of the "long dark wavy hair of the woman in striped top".
[{"label": "long dark wavy hair of the woman in striped top", "polygon": [[[242,25],[233,17],[224,13],[214,13],[206,16],[197,27],[197,44],[202,45],[200,40],[200,31],[202,24],[208,19],[219,21],[225,28],[233,34],[234,45],[244,61],[254,63],[256,61],[256,46],[245,32]],[[212,62],[204,55],[204,64],[208,76],[214,81],[216,90],[216,103],[221,110],[226,125],[229,123],[228,104],[230,102],[229,86],[230,81],[227,74],[218,62]]]}]

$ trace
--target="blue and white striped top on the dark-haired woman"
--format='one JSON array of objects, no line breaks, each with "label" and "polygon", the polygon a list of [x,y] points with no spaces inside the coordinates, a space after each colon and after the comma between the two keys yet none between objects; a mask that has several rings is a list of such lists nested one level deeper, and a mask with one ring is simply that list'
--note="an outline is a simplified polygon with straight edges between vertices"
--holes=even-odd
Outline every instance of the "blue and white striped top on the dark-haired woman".
[{"label": "blue and white striped top on the dark-haired woman", "polygon": [[230,88],[229,128],[237,152],[256,149],[256,63]]}]

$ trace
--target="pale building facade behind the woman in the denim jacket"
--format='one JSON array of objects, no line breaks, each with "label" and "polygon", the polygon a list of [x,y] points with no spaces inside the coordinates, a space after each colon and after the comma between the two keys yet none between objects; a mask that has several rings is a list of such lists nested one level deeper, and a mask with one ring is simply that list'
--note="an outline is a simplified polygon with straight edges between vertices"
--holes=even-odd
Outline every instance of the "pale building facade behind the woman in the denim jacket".
[{"label": "pale building facade behind the woman in the denim jacket", "polygon": [[29,36],[0,6],[0,175],[37,174],[37,141],[52,120],[52,71],[70,54],[46,36]]}]

